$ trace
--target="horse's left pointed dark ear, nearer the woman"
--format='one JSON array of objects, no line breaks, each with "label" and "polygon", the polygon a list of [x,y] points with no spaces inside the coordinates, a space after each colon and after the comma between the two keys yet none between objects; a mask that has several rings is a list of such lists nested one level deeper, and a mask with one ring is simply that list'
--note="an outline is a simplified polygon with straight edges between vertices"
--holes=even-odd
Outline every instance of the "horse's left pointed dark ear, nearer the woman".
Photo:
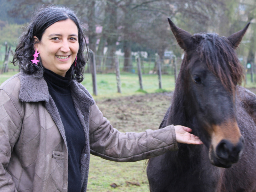
[{"label": "horse's left pointed dark ear, nearer the woman", "polygon": [[179,46],[187,51],[192,48],[194,43],[194,37],[187,31],[178,28],[171,20],[168,18],[172,33],[174,34]]}]

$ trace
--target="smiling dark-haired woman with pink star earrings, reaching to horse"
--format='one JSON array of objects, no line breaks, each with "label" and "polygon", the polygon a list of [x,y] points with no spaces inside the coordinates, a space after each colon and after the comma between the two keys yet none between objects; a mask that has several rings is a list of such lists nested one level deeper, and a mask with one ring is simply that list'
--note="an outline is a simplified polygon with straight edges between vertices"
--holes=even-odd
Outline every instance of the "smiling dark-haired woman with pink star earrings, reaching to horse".
[{"label": "smiling dark-haired woman with pink star earrings, reaching to horse", "polygon": [[20,73],[0,87],[0,190],[86,191],[90,153],[132,162],[202,144],[183,126],[120,133],[83,80],[85,41],[67,8],[41,9],[20,37]]}]

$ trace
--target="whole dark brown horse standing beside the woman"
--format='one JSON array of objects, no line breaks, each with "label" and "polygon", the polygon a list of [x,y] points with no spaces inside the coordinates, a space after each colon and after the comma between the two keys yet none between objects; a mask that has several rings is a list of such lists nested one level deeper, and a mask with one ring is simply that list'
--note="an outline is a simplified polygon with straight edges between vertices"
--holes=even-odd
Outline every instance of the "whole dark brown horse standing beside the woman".
[{"label": "whole dark brown horse standing beside the woman", "polygon": [[179,143],[178,151],[151,158],[150,191],[256,191],[256,95],[239,86],[235,51],[249,23],[225,38],[191,35],[168,21],[185,55],[160,128],[190,127],[204,144]]}]

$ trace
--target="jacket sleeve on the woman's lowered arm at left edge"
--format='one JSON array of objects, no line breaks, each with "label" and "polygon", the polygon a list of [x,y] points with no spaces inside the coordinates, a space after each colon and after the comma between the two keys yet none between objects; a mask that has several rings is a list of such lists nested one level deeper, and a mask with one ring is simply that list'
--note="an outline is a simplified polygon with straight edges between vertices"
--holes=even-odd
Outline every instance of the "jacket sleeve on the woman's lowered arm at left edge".
[{"label": "jacket sleeve on the woman's lowered arm at left edge", "polygon": [[7,171],[22,126],[19,107],[15,106],[15,102],[18,102],[18,98],[10,97],[5,90],[0,89],[0,191],[17,191]]}]

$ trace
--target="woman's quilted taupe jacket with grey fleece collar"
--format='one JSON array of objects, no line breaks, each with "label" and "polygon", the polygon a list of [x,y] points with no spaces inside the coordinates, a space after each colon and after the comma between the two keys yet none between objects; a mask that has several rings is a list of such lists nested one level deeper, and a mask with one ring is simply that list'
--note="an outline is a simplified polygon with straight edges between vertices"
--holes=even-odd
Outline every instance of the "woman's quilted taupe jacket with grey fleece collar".
[{"label": "woman's quilted taupe jacket with grey fleece collar", "polygon": [[[173,126],[121,133],[92,96],[73,81],[71,92],[86,143],[80,155],[86,191],[90,153],[131,162],[177,150]],[[67,191],[68,151],[58,110],[44,78],[18,73],[0,86],[0,191]]]}]

